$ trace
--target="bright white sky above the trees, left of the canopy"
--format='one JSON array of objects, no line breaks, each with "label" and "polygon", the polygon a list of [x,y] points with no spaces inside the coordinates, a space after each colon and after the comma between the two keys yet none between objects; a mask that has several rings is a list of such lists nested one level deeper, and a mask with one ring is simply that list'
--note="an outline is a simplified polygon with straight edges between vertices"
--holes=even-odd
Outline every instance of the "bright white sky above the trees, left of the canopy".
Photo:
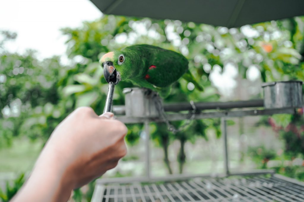
[{"label": "bright white sky above the trees, left of the canopy", "polygon": [[78,27],[83,21],[102,16],[89,0],[2,0],[0,1],[0,30],[18,34],[6,44],[11,52],[26,49],[38,51],[40,59],[64,55],[66,38],[59,29]]}]

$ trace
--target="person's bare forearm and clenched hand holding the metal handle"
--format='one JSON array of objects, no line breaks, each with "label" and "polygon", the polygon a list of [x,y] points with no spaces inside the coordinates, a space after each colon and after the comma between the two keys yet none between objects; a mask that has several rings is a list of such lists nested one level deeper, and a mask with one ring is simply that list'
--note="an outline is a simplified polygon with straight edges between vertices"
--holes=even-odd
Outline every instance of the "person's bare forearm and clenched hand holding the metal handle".
[{"label": "person's bare forearm and clenched hand holding the metal handle", "polygon": [[112,117],[109,112],[97,116],[89,107],[67,116],[50,136],[13,201],[67,201],[73,189],[114,168],[127,152],[127,128]]}]

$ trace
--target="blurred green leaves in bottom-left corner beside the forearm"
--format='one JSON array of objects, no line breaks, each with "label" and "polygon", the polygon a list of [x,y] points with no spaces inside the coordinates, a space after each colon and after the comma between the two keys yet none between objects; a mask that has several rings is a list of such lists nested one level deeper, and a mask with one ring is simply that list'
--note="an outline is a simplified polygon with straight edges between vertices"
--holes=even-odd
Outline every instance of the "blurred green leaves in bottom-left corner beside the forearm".
[{"label": "blurred green leaves in bottom-left corner beside the forearm", "polygon": [[20,189],[20,187],[22,187],[24,181],[24,173],[20,174],[12,183],[7,181],[5,190],[1,190],[0,188],[0,199],[3,202],[11,200]]}]

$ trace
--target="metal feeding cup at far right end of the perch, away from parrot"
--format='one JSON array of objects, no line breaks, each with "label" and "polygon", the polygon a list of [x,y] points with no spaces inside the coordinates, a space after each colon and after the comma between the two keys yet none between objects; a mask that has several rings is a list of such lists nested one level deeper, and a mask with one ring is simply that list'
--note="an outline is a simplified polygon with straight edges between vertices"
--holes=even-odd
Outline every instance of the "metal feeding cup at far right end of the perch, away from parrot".
[{"label": "metal feeding cup at far right end of the perch, away from parrot", "polygon": [[302,81],[263,83],[265,109],[303,107]]}]

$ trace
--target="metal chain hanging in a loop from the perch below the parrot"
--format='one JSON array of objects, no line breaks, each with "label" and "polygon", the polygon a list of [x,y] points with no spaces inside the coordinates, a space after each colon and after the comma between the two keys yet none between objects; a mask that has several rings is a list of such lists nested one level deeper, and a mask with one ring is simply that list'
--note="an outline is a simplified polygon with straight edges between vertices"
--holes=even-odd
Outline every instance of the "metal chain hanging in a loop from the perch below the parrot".
[{"label": "metal chain hanging in a loop from the perch below the parrot", "polygon": [[181,132],[182,130],[184,130],[188,125],[190,125],[190,123],[192,122],[192,120],[195,118],[195,113],[196,113],[196,106],[194,104],[194,102],[191,100],[190,104],[192,106],[192,111],[189,112],[189,118],[186,120],[186,122],[180,126],[178,129],[176,129],[168,120],[167,114],[165,113],[164,110],[164,106],[162,105],[161,99],[158,95],[156,95],[154,97],[154,103],[156,106],[156,109],[158,111],[158,113],[161,115],[161,118],[164,120],[164,122],[166,123],[168,130],[171,131],[173,134],[176,134],[178,132]]}]

